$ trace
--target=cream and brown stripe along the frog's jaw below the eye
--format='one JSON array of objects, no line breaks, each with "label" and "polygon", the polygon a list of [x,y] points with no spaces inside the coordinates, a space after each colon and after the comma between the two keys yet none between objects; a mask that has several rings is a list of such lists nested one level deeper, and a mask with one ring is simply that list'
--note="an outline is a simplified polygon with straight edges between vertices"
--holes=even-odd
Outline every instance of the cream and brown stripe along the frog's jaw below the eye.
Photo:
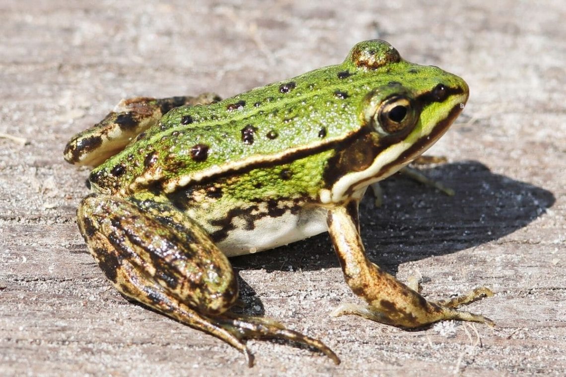
[{"label": "cream and brown stripe along the frog's jaw below the eye", "polygon": [[465,97],[455,96],[451,101],[452,106],[446,106],[444,111],[436,110],[434,120],[427,125],[418,124],[415,131],[404,140],[380,151],[366,170],[346,174],[332,186],[331,190],[321,191],[321,202],[325,204],[344,202],[355,192],[387,178],[409,164],[444,135],[464,108],[465,101]]}]

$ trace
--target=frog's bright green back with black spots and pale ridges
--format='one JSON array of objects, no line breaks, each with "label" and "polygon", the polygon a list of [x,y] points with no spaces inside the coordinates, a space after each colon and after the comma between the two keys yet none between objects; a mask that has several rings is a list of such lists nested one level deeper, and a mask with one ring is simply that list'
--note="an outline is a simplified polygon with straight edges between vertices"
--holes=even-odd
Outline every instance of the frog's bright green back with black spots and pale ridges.
[{"label": "frog's bright green back with black spots and pale ridges", "polygon": [[219,175],[283,166],[327,151],[318,155],[318,162],[302,164],[319,165],[319,175],[311,170],[315,189],[323,179],[325,161],[362,130],[359,107],[364,97],[387,83],[387,75],[376,71],[379,64],[400,61],[394,49],[388,54],[374,51],[389,59],[378,64],[363,55],[367,51],[362,47],[336,66],[211,105],[173,109],[96,168],[91,181],[114,194],[127,195],[156,183],[170,193]]}]

